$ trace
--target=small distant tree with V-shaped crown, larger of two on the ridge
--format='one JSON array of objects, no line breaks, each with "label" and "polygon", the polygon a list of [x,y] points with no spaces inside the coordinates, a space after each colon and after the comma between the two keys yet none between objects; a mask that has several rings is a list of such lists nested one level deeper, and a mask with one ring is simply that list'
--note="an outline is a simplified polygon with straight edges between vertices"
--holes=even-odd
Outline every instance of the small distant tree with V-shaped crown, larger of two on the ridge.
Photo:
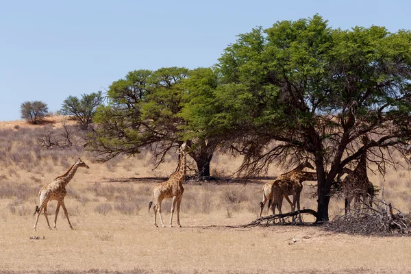
[{"label": "small distant tree with V-shaped crown, larger of two on the ridge", "polygon": [[81,127],[87,128],[92,123],[97,107],[103,103],[101,91],[82,95],[81,99],[69,96],[64,100],[60,114],[73,116]]}]

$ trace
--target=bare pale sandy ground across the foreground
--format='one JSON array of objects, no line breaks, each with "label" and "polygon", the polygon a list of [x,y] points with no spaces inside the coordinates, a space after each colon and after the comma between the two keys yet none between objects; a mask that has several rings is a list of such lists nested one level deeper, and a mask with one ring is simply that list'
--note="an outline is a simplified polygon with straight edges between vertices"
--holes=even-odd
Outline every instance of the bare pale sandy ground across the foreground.
[{"label": "bare pale sandy ground across the foreground", "polygon": [[[163,214],[168,223],[169,214]],[[251,213],[226,218],[219,212],[182,212],[181,228],[154,227],[152,213],[90,214],[72,216],[73,231],[63,216],[58,230],[50,231],[41,216],[37,232],[33,216],[0,216],[2,271],[411,273],[411,238],[351,236],[290,225],[227,227],[249,223]]]}]

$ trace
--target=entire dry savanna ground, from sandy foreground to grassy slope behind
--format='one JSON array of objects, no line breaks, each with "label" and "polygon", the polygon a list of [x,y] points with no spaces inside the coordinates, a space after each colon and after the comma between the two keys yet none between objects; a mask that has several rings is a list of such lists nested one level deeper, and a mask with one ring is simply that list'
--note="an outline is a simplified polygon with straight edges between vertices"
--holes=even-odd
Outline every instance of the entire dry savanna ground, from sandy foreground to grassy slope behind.
[{"label": "entire dry savanna ground, from sandy foreground to grassy slope behind", "polygon": [[[147,212],[151,190],[173,173],[177,155],[153,170],[148,152],[99,164],[79,147],[38,147],[36,138],[61,121],[0,122],[0,273],[411,273],[410,237],[336,234],[312,226],[235,227],[256,219],[263,184],[284,171],[273,167],[271,177],[245,184],[229,179],[240,159],[227,155],[212,160],[212,175],[222,179],[184,185],[183,227],[156,228],[153,212]],[[64,201],[75,230],[60,210],[58,230],[50,231],[40,216],[33,232],[38,190],[78,157],[90,169],[79,169],[67,186]],[[395,208],[410,211],[408,169],[389,171],[385,179],[370,173],[370,179],[384,187]],[[304,182],[301,208],[316,210],[310,184],[315,182]],[[49,203],[51,222],[55,206]],[[163,202],[166,225],[170,206]],[[343,201],[332,199],[331,217],[342,209]]]}]

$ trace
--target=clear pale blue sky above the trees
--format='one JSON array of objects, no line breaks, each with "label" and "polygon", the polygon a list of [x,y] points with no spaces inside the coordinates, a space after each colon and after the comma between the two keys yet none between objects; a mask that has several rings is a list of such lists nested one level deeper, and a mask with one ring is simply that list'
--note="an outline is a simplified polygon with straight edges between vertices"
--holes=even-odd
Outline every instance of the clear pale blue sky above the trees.
[{"label": "clear pale blue sky above the trees", "polygon": [[[198,2],[198,3],[197,3]],[[318,13],[336,28],[411,29],[411,2],[0,1],[0,121],[23,101],[50,111],[135,69],[212,66],[236,35]]]}]

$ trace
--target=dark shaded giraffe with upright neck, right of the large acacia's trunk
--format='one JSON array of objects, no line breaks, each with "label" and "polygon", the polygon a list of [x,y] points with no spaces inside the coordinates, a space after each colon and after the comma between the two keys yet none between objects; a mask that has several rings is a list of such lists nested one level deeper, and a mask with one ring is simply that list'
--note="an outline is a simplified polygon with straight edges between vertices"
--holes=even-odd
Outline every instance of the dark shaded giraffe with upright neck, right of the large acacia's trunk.
[{"label": "dark shaded giraffe with upright neck, right of the large acacia's trunk", "polygon": [[363,201],[366,199],[367,189],[369,188],[369,178],[366,174],[366,151],[369,143],[369,138],[364,136],[362,138],[362,153],[360,155],[360,162],[358,162],[356,169],[354,169],[343,181],[343,193],[345,196],[345,214],[351,210],[350,203],[354,197],[356,202],[360,201],[360,197]]}]

